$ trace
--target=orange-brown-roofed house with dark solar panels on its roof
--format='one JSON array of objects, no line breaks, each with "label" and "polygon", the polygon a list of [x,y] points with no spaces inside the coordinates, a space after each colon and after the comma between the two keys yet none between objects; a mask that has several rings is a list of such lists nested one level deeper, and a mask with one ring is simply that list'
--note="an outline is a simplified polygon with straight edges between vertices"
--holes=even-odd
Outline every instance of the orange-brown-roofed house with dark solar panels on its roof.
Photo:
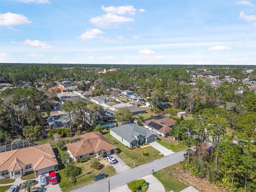
[{"label": "orange-brown-roofed house with dark solar panels on its roof", "polygon": [[149,119],[145,121],[144,127],[154,134],[167,137],[175,124],[176,121],[172,118]]}]

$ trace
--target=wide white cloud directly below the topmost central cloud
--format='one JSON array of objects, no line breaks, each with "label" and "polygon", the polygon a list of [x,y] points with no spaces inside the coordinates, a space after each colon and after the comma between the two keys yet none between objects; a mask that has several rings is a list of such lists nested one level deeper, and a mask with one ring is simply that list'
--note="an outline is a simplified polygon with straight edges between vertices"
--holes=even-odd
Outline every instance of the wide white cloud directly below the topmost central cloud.
[{"label": "wide white cloud directly below the topmost central cloud", "polygon": [[133,18],[123,17],[113,13],[107,13],[105,15],[101,15],[90,19],[90,22],[93,23],[95,26],[105,28],[116,27],[119,23],[132,21],[134,21]]}]

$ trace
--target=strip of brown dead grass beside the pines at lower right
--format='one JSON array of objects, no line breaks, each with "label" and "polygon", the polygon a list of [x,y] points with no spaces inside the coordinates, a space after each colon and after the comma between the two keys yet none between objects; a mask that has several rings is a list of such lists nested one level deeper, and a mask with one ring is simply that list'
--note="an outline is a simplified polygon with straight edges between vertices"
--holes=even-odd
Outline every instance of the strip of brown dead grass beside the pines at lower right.
[{"label": "strip of brown dead grass beside the pines at lower right", "polygon": [[195,187],[201,192],[227,192],[227,190],[221,189],[209,181],[199,179],[189,172],[185,172],[180,168],[179,164],[174,169],[170,169],[169,174],[175,175],[179,180],[188,183],[188,185]]}]

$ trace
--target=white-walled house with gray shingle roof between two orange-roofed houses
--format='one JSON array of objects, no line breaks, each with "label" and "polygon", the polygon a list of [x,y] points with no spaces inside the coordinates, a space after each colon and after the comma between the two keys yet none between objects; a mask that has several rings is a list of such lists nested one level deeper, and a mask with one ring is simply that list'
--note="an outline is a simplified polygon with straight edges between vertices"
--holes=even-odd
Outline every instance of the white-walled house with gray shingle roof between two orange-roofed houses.
[{"label": "white-walled house with gray shingle roof between two orange-roofed houses", "polygon": [[155,134],[137,124],[126,124],[110,129],[110,135],[122,142],[125,146],[132,148],[143,143],[155,142]]}]

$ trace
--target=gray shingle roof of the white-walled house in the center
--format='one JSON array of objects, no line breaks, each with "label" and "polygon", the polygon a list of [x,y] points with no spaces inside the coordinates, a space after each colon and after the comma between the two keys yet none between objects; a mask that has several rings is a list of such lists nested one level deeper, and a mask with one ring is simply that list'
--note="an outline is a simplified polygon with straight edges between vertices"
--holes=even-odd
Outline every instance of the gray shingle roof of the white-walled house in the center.
[{"label": "gray shingle roof of the white-walled house in the center", "polygon": [[126,124],[112,128],[110,130],[128,142],[137,140],[136,137],[138,137],[139,135],[145,136],[146,139],[149,138],[151,135],[154,135],[150,131],[144,129],[142,126],[139,126],[137,124]]}]

